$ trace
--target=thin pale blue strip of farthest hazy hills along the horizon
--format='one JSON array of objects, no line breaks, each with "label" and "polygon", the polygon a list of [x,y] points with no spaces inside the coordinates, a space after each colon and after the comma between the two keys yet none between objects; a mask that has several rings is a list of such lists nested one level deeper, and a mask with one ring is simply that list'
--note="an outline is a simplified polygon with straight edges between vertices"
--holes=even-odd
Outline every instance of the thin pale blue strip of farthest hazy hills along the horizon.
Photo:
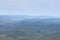
[{"label": "thin pale blue strip of farthest hazy hills along the horizon", "polygon": [[28,15],[0,15],[1,19],[32,19],[32,18],[58,18],[54,16],[28,16]]}]

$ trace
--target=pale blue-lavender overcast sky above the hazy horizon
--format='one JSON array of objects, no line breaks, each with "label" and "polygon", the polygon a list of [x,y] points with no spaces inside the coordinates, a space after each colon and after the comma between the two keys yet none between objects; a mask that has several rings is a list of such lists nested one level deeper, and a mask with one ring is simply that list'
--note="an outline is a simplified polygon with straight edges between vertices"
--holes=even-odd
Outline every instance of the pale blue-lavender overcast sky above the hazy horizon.
[{"label": "pale blue-lavender overcast sky above the hazy horizon", "polygon": [[0,15],[60,16],[60,0],[0,0]]}]

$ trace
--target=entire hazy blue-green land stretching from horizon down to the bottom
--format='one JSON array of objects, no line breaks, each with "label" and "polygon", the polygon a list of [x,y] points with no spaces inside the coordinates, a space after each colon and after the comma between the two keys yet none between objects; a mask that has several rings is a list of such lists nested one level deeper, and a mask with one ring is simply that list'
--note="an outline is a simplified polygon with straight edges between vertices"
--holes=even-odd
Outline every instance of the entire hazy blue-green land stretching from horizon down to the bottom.
[{"label": "entire hazy blue-green land stretching from horizon down to the bottom", "polygon": [[60,40],[60,18],[1,15],[0,40]]}]

